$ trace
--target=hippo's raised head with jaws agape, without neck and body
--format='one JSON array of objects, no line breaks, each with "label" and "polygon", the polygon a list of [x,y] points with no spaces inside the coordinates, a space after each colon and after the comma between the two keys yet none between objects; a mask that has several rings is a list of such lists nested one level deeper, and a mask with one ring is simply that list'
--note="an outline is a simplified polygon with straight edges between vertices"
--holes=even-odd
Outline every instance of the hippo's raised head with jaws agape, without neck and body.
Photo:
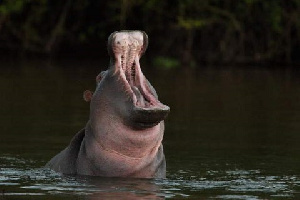
[{"label": "hippo's raised head with jaws agape, without neck and body", "polygon": [[108,38],[110,66],[100,73],[91,97],[93,125],[110,122],[133,129],[158,125],[170,108],[158,100],[155,89],[143,75],[140,58],[148,37],[141,31],[120,31]]}]

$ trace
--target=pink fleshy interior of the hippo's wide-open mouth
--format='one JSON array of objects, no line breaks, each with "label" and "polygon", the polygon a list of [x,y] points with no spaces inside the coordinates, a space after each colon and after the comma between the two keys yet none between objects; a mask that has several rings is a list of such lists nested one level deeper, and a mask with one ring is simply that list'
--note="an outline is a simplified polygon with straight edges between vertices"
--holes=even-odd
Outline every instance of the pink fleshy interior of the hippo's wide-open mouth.
[{"label": "pink fleshy interior of the hippo's wide-open mouth", "polygon": [[143,35],[140,32],[117,33],[112,50],[116,59],[115,70],[120,72],[125,88],[132,96],[136,107],[159,109],[165,107],[159,102],[140,67],[139,59],[143,51]]}]

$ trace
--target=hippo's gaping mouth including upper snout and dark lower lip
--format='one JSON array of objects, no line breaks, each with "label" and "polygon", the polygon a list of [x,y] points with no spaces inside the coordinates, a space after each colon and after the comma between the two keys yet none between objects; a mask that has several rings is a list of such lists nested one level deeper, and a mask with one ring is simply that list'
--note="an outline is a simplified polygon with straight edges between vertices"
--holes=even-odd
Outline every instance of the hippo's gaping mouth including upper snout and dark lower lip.
[{"label": "hippo's gaping mouth including upper snout and dark lower lip", "polygon": [[152,127],[164,120],[170,108],[158,96],[145,78],[140,57],[148,45],[148,37],[140,31],[115,32],[109,38],[109,53],[114,57],[114,73],[132,99],[132,120],[140,127]]}]

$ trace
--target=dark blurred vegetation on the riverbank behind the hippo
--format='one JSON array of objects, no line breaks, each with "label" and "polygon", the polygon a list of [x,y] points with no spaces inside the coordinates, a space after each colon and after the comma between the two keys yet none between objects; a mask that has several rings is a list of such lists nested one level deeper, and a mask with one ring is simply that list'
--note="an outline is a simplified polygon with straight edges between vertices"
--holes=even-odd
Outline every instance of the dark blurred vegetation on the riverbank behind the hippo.
[{"label": "dark blurred vegetation on the riverbank behind the hippo", "polygon": [[110,33],[147,32],[162,67],[299,63],[299,0],[0,0],[1,55],[106,56]]}]

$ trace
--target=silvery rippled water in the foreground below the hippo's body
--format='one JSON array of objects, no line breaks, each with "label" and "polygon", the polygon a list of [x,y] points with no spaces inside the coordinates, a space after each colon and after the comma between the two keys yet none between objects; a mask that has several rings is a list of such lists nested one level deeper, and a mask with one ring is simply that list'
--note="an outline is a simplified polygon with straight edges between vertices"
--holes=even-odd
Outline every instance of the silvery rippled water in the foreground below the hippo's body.
[{"label": "silvery rippled water in the foreground below the hippo's body", "polygon": [[32,168],[24,159],[0,157],[0,189],[5,195],[76,195],[129,199],[260,199],[291,198],[299,189],[299,177],[264,175],[260,170],[208,170],[201,174],[178,170],[168,179],[119,179],[61,176],[49,169]]}]

